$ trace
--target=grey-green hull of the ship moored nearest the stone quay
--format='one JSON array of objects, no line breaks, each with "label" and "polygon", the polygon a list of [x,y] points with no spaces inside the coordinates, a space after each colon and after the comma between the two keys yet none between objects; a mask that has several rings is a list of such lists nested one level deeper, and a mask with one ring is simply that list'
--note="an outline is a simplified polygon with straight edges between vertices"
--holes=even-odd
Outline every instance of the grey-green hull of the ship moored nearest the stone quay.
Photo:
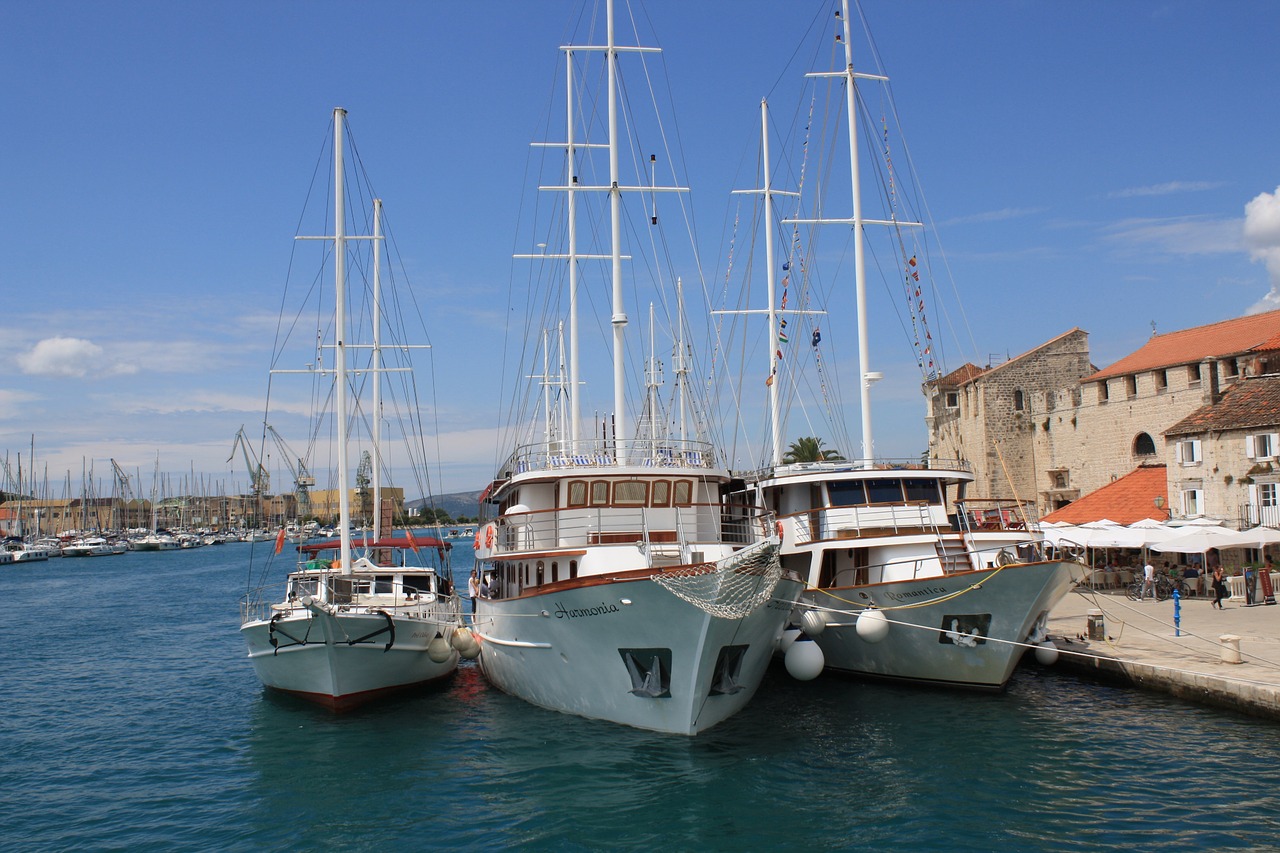
[{"label": "grey-green hull of the ship moored nearest the stone quay", "polygon": [[[840,589],[808,589],[827,616],[813,639],[828,671],[1000,690],[1048,611],[1084,576],[1076,562],[1048,561]],[[850,607],[850,602],[854,606]],[[890,621],[878,643],[858,634],[874,606]]]}]

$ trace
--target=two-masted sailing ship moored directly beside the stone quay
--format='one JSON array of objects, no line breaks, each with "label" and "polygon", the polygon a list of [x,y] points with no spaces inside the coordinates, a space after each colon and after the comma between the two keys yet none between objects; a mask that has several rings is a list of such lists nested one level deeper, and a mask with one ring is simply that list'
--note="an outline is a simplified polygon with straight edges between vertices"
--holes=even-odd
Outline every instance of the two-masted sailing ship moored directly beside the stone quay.
[{"label": "two-masted sailing ship moored directly beside the stone quay", "polygon": [[[786,287],[781,302],[776,301],[772,204],[774,195],[783,193],[771,186],[768,122],[763,123],[765,158],[760,193],[768,211],[765,220],[771,223],[765,311],[771,342],[767,380],[771,430],[767,464],[750,478],[748,491],[753,501],[778,514],[783,567],[808,580],[796,608],[795,628],[787,638],[790,642],[799,635],[799,642],[790,642],[786,651],[787,669],[805,679],[817,676],[826,666],[863,676],[1000,689],[1024,651],[1046,639],[1050,610],[1084,576],[1085,569],[1074,561],[1046,557],[1043,538],[1034,529],[1033,507],[1016,500],[965,501],[965,487],[973,482],[968,464],[874,457],[870,387],[882,377],[870,368],[865,231],[891,229],[895,246],[905,247],[910,241],[901,237],[902,231],[920,223],[908,222],[897,211],[884,219],[863,214],[858,87],[864,81],[878,83],[887,78],[854,70],[847,0],[842,0],[842,6],[844,31],[837,41],[844,42],[844,68],[808,77],[844,87],[844,97],[833,101],[841,102],[846,113],[852,215],[796,216],[785,222],[852,229],[863,451],[858,460],[828,461],[819,456],[813,461],[788,461],[782,452],[780,394],[785,392],[780,388],[794,375],[778,364],[787,341],[787,319],[792,323],[792,337],[812,342],[814,362],[820,366],[820,332],[813,320],[820,311],[808,310],[799,300],[799,307],[785,310]],[[762,104],[762,111],[767,115],[767,105]],[[882,181],[882,188],[886,186],[886,195],[892,199],[893,181]],[[808,269],[809,260],[795,252],[800,242],[794,240],[782,269],[796,279],[795,287],[804,288],[805,277],[813,270]],[[916,255],[901,259],[909,289],[918,277],[919,263]],[[909,293],[909,298],[914,305],[919,291]],[[922,321],[923,318],[913,315],[914,328],[919,329]],[[931,355],[928,346],[920,347],[918,355]],[[928,361],[922,359],[922,368]],[[820,377],[819,383],[823,393],[835,384]],[[955,496],[950,506],[948,494]]]}]

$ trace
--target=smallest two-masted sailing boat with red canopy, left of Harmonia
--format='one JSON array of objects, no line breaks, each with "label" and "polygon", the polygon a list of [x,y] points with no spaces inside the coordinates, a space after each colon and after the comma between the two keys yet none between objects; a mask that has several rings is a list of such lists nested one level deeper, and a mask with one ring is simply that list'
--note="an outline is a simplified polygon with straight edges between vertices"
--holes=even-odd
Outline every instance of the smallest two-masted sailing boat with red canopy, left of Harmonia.
[{"label": "smallest two-masted sailing boat with red canopy, left of Harmonia", "polygon": [[[288,574],[285,594],[276,602],[268,601],[261,589],[248,593],[242,603],[241,634],[248,647],[248,658],[262,684],[275,690],[346,711],[392,692],[419,686],[452,675],[458,652],[452,647],[454,631],[461,626],[458,598],[452,581],[442,575],[447,569],[448,546],[435,538],[415,537],[406,529],[394,535],[390,512],[380,487],[381,450],[379,426],[371,430],[374,452],[361,459],[357,480],[366,485],[366,460],[372,469],[374,540],[352,542],[352,476],[348,466],[348,430],[351,412],[358,400],[348,400],[357,370],[348,361],[360,346],[349,337],[346,320],[347,305],[347,242],[371,240],[374,246],[374,343],[369,347],[371,362],[358,373],[371,375],[372,416],[381,421],[380,387],[384,371],[407,368],[384,368],[380,341],[380,211],[374,202],[374,236],[346,234],[343,131],[346,110],[333,113],[334,156],[334,234],[320,240],[333,241],[335,268],[335,309],[333,318],[335,364],[333,370],[308,369],[301,373],[323,373],[334,377],[334,426],[337,432],[337,497],[339,505],[339,538],[300,548],[300,562]],[[410,347],[397,345],[394,350]],[[282,370],[276,373],[296,373]],[[376,457],[376,460],[374,459]],[[275,553],[284,547],[284,530],[275,540]],[[440,564],[426,565],[411,558],[435,553]],[[326,555],[334,553],[335,558]],[[268,561],[270,565],[270,561]]]}]

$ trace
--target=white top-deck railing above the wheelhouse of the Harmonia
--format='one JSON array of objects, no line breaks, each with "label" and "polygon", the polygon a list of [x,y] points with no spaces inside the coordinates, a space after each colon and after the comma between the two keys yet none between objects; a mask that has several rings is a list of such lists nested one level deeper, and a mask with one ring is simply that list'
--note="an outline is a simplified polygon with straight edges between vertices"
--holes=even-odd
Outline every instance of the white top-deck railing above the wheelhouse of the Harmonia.
[{"label": "white top-deck railing above the wheelhouse of the Harmonia", "polygon": [[524,444],[507,457],[500,476],[526,471],[609,467],[716,467],[716,451],[708,442],[671,439],[563,441]]}]

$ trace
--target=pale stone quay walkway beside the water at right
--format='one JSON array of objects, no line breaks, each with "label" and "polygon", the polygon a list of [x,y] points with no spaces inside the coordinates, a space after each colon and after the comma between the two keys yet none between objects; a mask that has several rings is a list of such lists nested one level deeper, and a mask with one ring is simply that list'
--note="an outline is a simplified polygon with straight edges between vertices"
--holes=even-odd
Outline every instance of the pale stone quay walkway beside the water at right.
[{"label": "pale stone quay walkway beside the water at right", "polygon": [[[1061,652],[1057,666],[1280,720],[1280,606],[1229,598],[1224,607],[1183,599],[1175,626],[1172,598],[1130,601],[1080,588],[1050,613],[1048,631]],[[1093,611],[1105,638],[1089,638]],[[1234,642],[1240,662],[1224,662],[1235,657]]]}]

